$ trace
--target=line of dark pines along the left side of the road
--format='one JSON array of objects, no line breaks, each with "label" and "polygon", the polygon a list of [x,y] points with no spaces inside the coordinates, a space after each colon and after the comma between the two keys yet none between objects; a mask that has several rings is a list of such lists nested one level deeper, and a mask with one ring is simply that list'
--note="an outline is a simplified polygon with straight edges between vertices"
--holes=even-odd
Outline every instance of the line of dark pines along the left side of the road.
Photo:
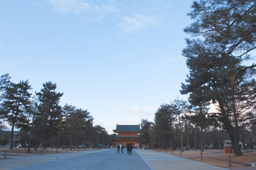
[{"label": "line of dark pines along the left side of the road", "polygon": [[[107,145],[110,135],[100,125],[93,125],[90,112],[65,104],[57,84],[47,81],[34,96],[28,80],[11,82],[9,74],[0,77],[0,118],[11,126],[10,149],[14,147],[14,129],[20,129],[23,144],[44,147],[97,147]],[[4,129],[1,123],[0,128]],[[1,130],[0,129],[0,130]]]}]

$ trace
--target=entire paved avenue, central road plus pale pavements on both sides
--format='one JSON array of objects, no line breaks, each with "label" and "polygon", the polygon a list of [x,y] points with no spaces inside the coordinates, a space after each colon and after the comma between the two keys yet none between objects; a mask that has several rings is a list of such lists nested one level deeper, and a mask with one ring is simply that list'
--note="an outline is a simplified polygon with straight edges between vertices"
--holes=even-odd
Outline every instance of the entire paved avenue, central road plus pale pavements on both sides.
[{"label": "entire paved avenue, central road plus pale pavements on both sides", "polygon": [[70,170],[70,169],[124,169],[124,170],[166,170],[166,169],[223,169],[201,162],[193,162],[171,154],[149,150],[133,150],[132,155],[117,153],[116,149],[100,149],[85,152],[34,155],[0,160],[0,169],[16,170]]}]

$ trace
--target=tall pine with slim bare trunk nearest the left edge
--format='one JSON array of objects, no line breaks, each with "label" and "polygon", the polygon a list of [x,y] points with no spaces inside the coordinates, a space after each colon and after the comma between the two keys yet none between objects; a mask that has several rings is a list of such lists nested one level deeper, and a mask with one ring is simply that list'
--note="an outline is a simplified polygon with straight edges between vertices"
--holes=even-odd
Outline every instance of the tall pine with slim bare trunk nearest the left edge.
[{"label": "tall pine with slim bare trunk nearest the left edge", "polygon": [[26,123],[26,107],[29,103],[31,94],[28,92],[31,86],[27,81],[20,81],[18,84],[10,83],[6,87],[4,102],[1,103],[1,118],[11,125],[11,145],[13,149],[14,128],[21,128]]}]

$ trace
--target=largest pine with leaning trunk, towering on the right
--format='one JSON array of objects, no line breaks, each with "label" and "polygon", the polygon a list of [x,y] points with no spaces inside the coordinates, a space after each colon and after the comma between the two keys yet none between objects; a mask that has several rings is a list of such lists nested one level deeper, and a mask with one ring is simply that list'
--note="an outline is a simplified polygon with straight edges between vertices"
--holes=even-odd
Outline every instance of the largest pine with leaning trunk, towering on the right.
[{"label": "largest pine with leaning trunk, towering on the right", "polygon": [[197,0],[192,8],[188,15],[195,22],[185,32],[195,38],[186,40],[183,50],[190,74],[181,93],[190,94],[193,101],[199,96],[218,103],[218,119],[230,135],[235,154],[242,155],[233,120],[237,119],[235,100],[242,102],[245,98],[240,96],[248,94],[241,87],[255,86],[252,74],[256,65],[245,65],[244,61],[250,60],[256,49],[256,2]]}]

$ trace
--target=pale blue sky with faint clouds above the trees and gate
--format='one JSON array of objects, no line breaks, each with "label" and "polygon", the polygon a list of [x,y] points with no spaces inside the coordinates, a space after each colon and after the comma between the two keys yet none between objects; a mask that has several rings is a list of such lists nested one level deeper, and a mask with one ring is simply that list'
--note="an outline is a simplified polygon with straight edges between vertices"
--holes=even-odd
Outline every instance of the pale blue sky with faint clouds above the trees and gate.
[{"label": "pale blue sky with faint clouds above the trees and gate", "polygon": [[57,84],[60,105],[87,109],[94,125],[154,121],[180,94],[191,0],[0,1],[0,74],[32,93]]}]

